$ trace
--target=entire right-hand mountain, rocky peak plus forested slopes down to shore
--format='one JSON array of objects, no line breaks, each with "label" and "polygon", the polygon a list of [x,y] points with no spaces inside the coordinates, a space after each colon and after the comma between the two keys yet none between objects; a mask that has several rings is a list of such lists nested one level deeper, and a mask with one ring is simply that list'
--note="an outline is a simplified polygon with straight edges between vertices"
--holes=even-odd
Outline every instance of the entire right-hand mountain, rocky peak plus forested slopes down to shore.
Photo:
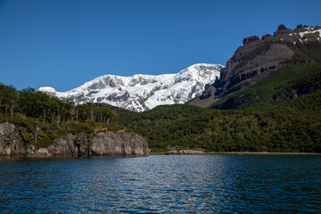
[{"label": "entire right-hand mountain, rocky peak plus forested slopes down to shore", "polygon": [[237,62],[228,62],[221,78],[190,102],[214,102],[212,109],[122,111],[119,122],[144,136],[154,151],[321,152],[320,33],[280,26],[275,37],[244,39],[230,60]]}]

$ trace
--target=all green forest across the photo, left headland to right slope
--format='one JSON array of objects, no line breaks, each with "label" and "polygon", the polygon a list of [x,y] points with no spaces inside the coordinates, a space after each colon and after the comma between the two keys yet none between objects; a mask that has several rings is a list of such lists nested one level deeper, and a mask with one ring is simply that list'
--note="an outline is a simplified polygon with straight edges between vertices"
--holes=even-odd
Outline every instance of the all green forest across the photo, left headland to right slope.
[{"label": "all green forest across the photo, left headland to right slope", "polygon": [[0,122],[17,125],[25,146],[53,143],[66,133],[126,129],[152,152],[321,152],[321,65],[287,66],[203,109],[188,104],[133,112],[78,104],[0,84]]}]

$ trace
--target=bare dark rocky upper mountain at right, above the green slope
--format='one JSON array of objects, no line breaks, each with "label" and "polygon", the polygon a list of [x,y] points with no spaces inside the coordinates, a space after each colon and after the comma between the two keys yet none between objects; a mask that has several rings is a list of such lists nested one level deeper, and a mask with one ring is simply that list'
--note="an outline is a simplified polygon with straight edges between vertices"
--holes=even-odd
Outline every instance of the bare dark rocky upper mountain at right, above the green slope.
[{"label": "bare dark rocky upper mountain at right, above the green slope", "polygon": [[207,107],[222,97],[268,77],[287,65],[321,62],[321,27],[298,25],[287,29],[280,25],[274,36],[243,39],[232,58],[221,70],[221,76],[206,86],[202,95],[190,104]]}]

